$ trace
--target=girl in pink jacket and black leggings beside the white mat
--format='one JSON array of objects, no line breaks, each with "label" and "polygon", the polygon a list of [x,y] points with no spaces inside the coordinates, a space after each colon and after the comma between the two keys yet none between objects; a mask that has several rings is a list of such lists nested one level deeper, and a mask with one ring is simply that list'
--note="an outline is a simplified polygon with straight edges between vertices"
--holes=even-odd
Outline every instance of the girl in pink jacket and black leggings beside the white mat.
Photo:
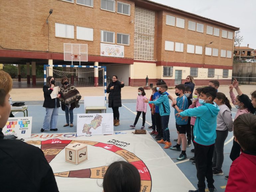
[{"label": "girl in pink jacket and black leggings beside the white mat", "polygon": [[145,121],[146,121],[146,112],[147,112],[147,103],[144,102],[144,99],[147,100],[147,97],[145,96],[146,93],[142,87],[138,89],[138,97],[137,97],[137,103],[136,103],[136,111],[137,115],[134,121],[133,125],[130,125],[131,128],[135,129],[135,126],[139,120],[139,117],[142,113],[142,127],[141,129],[145,129]]}]

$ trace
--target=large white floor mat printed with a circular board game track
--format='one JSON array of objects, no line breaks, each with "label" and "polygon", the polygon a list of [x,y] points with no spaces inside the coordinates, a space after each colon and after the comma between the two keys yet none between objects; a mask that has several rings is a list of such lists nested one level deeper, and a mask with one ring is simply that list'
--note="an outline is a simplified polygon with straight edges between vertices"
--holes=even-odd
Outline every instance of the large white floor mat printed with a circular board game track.
[{"label": "large white floor mat printed with a circular board game track", "polygon": [[[112,162],[124,160],[140,172],[142,192],[184,192],[191,182],[153,140],[146,135],[127,134],[75,137],[75,133],[32,134],[25,142],[40,147],[53,168],[61,192],[102,192],[102,178]],[[65,162],[64,147],[87,144],[88,159],[78,165]],[[166,149],[167,150],[167,149]]]}]

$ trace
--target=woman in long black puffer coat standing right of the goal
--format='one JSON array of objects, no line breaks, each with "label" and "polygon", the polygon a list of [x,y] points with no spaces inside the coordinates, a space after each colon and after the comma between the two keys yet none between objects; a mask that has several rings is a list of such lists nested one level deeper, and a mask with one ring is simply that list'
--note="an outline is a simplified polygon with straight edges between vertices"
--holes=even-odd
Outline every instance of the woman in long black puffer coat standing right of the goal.
[{"label": "woman in long black puffer coat standing right of the goal", "polygon": [[124,87],[123,81],[118,81],[117,76],[113,75],[112,82],[107,87],[108,95],[108,107],[113,110],[114,126],[119,125],[119,111],[118,108],[122,107],[121,102],[121,88]]}]

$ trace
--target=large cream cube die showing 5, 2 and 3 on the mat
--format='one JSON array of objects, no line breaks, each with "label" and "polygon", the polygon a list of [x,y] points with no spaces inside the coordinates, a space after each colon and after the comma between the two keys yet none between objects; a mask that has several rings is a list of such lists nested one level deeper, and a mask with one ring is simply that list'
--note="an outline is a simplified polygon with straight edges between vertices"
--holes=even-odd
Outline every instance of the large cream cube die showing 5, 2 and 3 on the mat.
[{"label": "large cream cube die showing 5, 2 and 3 on the mat", "polygon": [[65,147],[66,162],[79,164],[87,160],[87,145],[82,143],[73,143]]}]

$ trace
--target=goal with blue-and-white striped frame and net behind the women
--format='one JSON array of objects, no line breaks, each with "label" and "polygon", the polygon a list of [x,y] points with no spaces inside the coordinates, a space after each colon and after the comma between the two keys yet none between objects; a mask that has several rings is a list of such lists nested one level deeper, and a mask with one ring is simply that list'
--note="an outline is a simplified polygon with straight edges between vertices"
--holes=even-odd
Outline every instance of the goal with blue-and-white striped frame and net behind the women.
[{"label": "goal with blue-and-white striped frame and net behind the women", "polygon": [[55,85],[62,86],[61,79],[66,76],[83,96],[104,96],[106,98],[106,67],[44,65],[44,81],[48,76],[55,78]]}]

